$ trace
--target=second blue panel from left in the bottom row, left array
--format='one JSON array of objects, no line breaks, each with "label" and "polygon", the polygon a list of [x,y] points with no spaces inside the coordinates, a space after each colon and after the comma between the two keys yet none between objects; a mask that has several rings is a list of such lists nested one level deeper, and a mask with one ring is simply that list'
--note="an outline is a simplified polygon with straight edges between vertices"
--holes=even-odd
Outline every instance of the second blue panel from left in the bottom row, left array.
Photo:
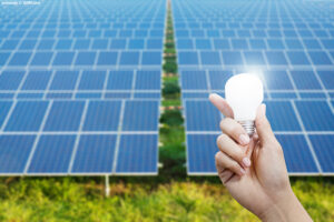
[{"label": "second blue panel from left in the bottom row, left array", "polygon": [[75,135],[41,135],[28,173],[67,173],[75,142]]}]

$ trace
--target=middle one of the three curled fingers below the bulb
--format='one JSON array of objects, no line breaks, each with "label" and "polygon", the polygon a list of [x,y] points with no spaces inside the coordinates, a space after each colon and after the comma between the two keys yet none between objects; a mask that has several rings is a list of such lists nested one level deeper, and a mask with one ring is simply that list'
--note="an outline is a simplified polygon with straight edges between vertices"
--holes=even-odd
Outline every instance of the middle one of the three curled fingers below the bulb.
[{"label": "middle one of the three curled fingers below the bulb", "polygon": [[224,154],[238,162],[239,165],[244,168],[250,167],[250,160],[246,155],[246,152],[242,150],[242,148],[237,145],[237,143],[235,143],[234,140],[232,140],[226,134],[222,134],[218,137],[217,145]]}]

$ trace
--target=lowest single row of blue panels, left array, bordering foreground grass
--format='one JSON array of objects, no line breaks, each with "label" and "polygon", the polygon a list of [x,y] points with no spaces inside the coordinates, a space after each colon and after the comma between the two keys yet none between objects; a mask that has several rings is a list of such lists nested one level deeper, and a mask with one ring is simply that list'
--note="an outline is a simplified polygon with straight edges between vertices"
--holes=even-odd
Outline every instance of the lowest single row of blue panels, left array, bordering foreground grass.
[{"label": "lowest single row of blue panels, left array, bordering foreground grass", "polygon": [[2,175],[157,173],[158,134],[10,134],[0,145]]}]

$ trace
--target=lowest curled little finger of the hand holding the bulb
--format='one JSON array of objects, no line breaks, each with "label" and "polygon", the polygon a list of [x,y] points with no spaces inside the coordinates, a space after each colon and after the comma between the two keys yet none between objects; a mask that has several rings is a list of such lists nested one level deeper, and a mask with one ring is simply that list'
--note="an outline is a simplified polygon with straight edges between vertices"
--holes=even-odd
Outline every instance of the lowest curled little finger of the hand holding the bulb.
[{"label": "lowest curled little finger of the hand holding the bulb", "polygon": [[224,179],[223,171],[225,169],[228,169],[233,173],[236,173],[240,176],[246,173],[246,171],[236,161],[232,160],[228,155],[222,152],[217,152],[215,159],[216,159],[216,168],[218,170],[222,180]]}]

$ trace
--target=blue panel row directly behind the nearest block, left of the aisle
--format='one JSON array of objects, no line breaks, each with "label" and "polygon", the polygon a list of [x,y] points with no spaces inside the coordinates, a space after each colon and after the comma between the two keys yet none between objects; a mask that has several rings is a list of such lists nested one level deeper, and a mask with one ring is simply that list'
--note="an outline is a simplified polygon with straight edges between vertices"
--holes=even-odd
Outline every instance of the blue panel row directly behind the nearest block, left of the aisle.
[{"label": "blue panel row directly behind the nearest block, left of the aisle", "polygon": [[4,70],[0,100],[159,99],[160,84],[160,70]]}]

